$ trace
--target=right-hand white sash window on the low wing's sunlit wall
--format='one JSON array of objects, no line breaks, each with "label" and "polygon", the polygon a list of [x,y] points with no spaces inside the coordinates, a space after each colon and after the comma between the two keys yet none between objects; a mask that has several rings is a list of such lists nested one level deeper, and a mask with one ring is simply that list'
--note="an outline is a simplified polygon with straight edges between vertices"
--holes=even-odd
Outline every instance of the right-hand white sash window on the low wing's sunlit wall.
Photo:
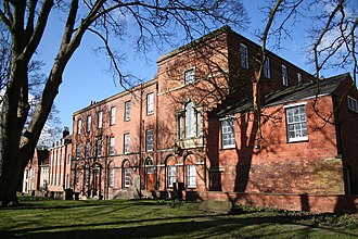
[{"label": "right-hand white sash window on the low wing's sunlit wall", "polygon": [[286,109],[289,142],[307,140],[306,105],[287,105],[284,108]]}]

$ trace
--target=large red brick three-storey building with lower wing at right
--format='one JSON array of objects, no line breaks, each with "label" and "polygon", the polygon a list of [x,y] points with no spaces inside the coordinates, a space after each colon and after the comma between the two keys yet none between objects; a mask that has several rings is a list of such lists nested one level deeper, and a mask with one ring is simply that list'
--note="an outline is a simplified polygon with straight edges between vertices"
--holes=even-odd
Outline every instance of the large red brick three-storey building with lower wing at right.
[{"label": "large red brick three-storey building with lower wing at right", "polygon": [[357,193],[358,95],[350,76],[317,85],[268,52],[255,88],[259,49],[220,28],[159,58],[153,80],[75,112],[75,192],[276,207],[285,207],[281,196],[297,196],[294,210],[311,210],[311,196]]}]

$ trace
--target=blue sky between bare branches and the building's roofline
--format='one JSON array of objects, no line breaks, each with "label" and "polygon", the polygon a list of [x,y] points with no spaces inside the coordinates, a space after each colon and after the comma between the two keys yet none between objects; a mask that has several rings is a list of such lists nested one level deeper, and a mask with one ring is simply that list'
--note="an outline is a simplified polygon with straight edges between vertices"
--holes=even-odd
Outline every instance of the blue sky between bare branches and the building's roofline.
[{"label": "blue sky between bare branches and the building's roofline", "polygon": [[[263,28],[265,24],[261,23],[263,15],[258,10],[261,1],[243,0],[243,3],[251,18],[251,25],[245,30],[239,30],[239,34],[258,42],[254,37],[254,32],[257,28]],[[43,67],[44,74],[48,74],[52,66],[54,55],[60,46],[63,26],[63,20],[53,11],[38,51],[38,58],[46,63]],[[284,43],[285,49],[274,53],[310,72],[311,68],[306,64],[307,60],[304,56],[303,48],[305,42],[304,29],[297,27],[294,32],[294,38]],[[107,60],[103,55],[94,53],[93,49],[99,43],[100,41],[93,35],[85,35],[81,46],[75,52],[65,70],[63,84],[55,99],[55,104],[60,110],[59,117],[62,121],[62,126],[68,126],[72,129],[72,115],[75,111],[88,106],[93,100],[100,101],[123,91],[123,88],[116,85],[112,76],[105,72],[108,64]],[[152,79],[156,73],[156,60],[162,54],[174,50],[169,47],[159,52],[153,50],[148,54],[150,61],[146,62],[141,55],[136,54],[131,46],[124,46],[124,48],[127,49],[127,63],[122,66],[146,80]]]}]

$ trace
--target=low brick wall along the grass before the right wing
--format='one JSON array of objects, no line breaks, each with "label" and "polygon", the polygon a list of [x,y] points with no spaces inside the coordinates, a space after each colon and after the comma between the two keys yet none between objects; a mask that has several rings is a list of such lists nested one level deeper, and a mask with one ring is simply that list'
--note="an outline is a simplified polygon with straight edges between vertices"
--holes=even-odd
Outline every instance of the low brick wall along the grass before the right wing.
[{"label": "low brick wall along the grass before the right wing", "polygon": [[235,205],[268,206],[315,213],[358,213],[358,196],[235,193],[208,191],[204,200],[230,201]]}]

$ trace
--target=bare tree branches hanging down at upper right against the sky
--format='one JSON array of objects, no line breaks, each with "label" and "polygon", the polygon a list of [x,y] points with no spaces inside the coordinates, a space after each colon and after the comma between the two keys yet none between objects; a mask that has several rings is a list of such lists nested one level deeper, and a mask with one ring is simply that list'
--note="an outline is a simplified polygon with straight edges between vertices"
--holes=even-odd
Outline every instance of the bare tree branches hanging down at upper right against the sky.
[{"label": "bare tree branches hanging down at upper right against the sky", "polygon": [[[314,25],[301,26],[301,28],[308,33],[310,43],[306,46],[307,60],[314,68],[314,75],[317,79],[317,92],[319,92],[319,83],[324,70],[350,72],[353,75],[351,87],[356,86],[358,62],[357,36],[355,34],[358,16],[353,2],[346,0],[269,0],[267,3],[268,5],[261,8],[261,12],[266,14],[265,29],[258,33],[261,41],[261,58],[258,59],[259,64],[255,75],[257,85],[260,84],[266,61],[267,42],[270,41],[273,49],[281,49],[283,40],[292,38],[297,25],[311,21],[315,23]],[[257,90],[256,93],[259,93],[259,91]],[[256,95],[255,99],[259,99],[259,96]],[[254,102],[254,109],[255,112],[260,114],[260,108],[256,101]],[[321,116],[319,111],[316,111],[316,113],[323,121],[332,123],[330,116]],[[259,120],[257,124],[260,128]],[[258,129],[257,138],[260,137],[260,129]]]}]

